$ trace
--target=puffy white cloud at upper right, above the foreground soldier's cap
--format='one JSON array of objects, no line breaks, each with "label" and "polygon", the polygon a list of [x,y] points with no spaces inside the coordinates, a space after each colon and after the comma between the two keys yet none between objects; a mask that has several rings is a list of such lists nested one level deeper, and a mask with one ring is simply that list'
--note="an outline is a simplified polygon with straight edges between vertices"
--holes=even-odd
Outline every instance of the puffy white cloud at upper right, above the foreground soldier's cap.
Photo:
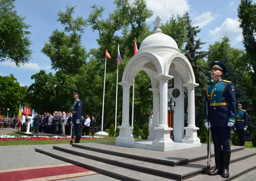
[{"label": "puffy white cloud at upper right, above the foreground soldier's cap", "polygon": [[220,38],[227,35],[230,38],[230,43],[235,45],[237,42],[242,41],[242,29],[239,28],[238,19],[227,18],[223,24],[214,30],[210,30],[210,35],[213,40],[220,40]]}]

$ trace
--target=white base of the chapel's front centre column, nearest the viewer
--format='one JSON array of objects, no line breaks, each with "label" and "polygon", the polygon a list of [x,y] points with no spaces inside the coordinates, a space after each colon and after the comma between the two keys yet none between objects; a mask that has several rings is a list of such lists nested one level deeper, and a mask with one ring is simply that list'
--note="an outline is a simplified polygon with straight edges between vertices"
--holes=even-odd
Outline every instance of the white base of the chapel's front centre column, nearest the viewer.
[{"label": "white base of the chapel's front centre column, nearest the viewer", "polygon": [[152,141],[152,146],[159,147],[171,147],[174,145],[172,139],[170,139],[170,131],[173,130],[171,127],[155,127],[156,138]]}]

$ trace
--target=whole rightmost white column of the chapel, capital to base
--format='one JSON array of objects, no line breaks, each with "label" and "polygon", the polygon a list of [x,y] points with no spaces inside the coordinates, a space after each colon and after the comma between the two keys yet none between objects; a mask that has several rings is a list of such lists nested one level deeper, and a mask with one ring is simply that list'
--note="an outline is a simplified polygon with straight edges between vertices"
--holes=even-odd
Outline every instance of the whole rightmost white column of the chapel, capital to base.
[{"label": "whole rightmost white column of the chapel, capital to base", "polygon": [[188,124],[187,127],[184,127],[186,130],[186,136],[182,139],[183,143],[194,143],[201,144],[200,139],[197,137],[197,130],[199,129],[195,125],[195,104],[194,104],[194,88],[199,84],[197,83],[186,83],[183,84],[184,87],[187,87],[187,102],[188,102]]}]

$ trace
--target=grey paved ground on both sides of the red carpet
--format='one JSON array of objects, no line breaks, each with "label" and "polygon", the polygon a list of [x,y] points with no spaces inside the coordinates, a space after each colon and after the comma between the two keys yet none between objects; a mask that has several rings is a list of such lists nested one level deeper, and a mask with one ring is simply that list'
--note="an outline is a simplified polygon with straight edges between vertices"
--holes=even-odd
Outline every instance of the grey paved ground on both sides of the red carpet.
[{"label": "grey paved ground on both sides of the red carpet", "polygon": [[[33,167],[32,169],[47,169],[49,167],[66,166],[66,162],[57,160],[47,155],[40,154],[34,151],[34,148],[49,148],[52,145],[20,145],[20,146],[0,146],[0,174],[4,174],[4,169],[12,169],[9,172],[13,171],[22,171],[27,168],[24,167]],[[58,165],[57,165],[58,164]],[[71,165],[71,164],[70,164]],[[38,167],[41,166],[41,167]],[[19,168],[19,170],[18,170]],[[92,171],[90,171],[92,172]],[[47,173],[46,173],[47,174]],[[93,173],[91,173],[93,174]],[[41,175],[41,174],[40,174]],[[71,179],[62,179],[61,181],[84,181],[84,180],[93,180],[93,181],[117,181],[108,176],[102,174],[87,175],[85,172],[80,174],[82,177],[71,178]],[[77,176],[77,174],[76,174]],[[43,176],[44,177],[44,176]],[[62,177],[66,178],[66,177]],[[41,179],[33,179],[33,181],[41,181]],[[8,180],[5,180],[8,181]]]}]

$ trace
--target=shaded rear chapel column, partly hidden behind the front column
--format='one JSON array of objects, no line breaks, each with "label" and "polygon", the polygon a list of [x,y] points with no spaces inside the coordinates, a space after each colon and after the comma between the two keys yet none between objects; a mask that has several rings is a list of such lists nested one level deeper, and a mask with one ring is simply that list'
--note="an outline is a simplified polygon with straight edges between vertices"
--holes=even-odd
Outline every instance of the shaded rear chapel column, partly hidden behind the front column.
[{"label": "shaded rear chapel column, partly hidden behind the front column", "polygon": [[147,140],[153,141],[156,138],[155,127],[158,127],[159,121],[159,88],[149,88],[153,92],[153,124],[149,127],[149,136]]}]

